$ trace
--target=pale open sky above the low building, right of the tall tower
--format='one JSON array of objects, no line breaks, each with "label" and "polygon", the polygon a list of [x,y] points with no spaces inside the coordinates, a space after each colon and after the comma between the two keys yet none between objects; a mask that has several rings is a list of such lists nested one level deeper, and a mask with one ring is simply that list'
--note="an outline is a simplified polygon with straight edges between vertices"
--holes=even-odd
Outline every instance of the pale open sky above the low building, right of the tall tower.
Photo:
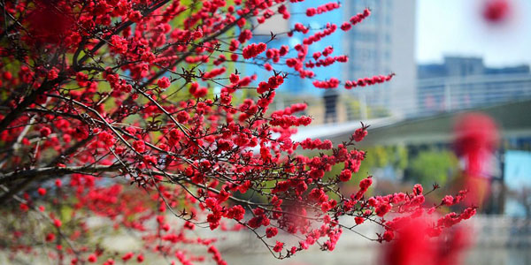
[{"label": "pale open sky above the low building, right of the tall tower", "polygon": [[531,64],[531,1],[507,0],[511,19],[493,26],[481,18],[486,0],[417,0],[416,57],[483,57],[492,66]]}]

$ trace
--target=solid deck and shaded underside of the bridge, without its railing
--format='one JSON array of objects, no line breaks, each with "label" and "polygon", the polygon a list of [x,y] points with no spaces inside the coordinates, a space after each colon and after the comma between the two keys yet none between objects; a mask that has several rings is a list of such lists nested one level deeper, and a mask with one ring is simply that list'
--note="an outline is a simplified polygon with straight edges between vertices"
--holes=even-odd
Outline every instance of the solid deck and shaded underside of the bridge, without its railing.
[{"label": "solid deck and shaded underside of the bridge, without its railing", "polygon": [[[364,121],[371,125],[361,147],[396,144],[450,143],[452,128],[459,115],[481,111],[494,118],[503,138],[531,137],[531,100],[504,103],[473,110],[456,110],[431,117],[381,117]],[[314,125],[300,128],[294,140],[307,137],[329,139],[335,143],[348,141],[360,123],[348,122],[336,125]]]}]

